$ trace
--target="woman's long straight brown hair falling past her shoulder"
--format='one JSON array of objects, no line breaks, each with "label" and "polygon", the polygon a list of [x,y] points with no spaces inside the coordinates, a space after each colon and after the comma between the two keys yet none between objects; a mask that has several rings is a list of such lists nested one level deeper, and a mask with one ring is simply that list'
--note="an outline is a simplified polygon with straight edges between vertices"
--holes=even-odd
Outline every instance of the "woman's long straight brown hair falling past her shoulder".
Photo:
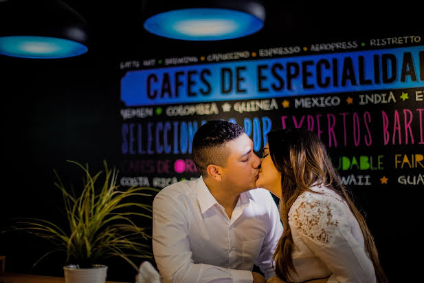
[{"label": "woman's long straight brown hair falling past her shoulder", "polygon": [[280,199],[280,218],[284,232],[274,252],[274,262],[277,275],[289,281],[289,273],[296,272],[291,253],[293,238],[289,226],[289,211],[293,202],[312,185],[324,185],[333,189],[346,200],[350,211],[359,222],[366,251],[374,265],[377,282],[388,282],[379,263],[374,239],[367,227],[364,216],[355,207],[348,196],[346,188],[334,169],[330,158],[318,136],[307,129],[280,129],[268,134],[269,153],[281,172],[282,194]]}]

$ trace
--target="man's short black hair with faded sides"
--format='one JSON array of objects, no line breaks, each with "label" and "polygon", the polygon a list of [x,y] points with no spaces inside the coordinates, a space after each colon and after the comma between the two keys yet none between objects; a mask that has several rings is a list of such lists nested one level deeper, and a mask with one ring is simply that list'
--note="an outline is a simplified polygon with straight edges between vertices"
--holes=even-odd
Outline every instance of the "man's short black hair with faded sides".
[{"label": "man's short black hair with faded sides", "polygon": [[209,165],[225,166],[230,152],[225,143],[241,136],[245,131],[240,125],[225,120],[210,120],[194,134],[192,156],[197,170],[208,176]]}]

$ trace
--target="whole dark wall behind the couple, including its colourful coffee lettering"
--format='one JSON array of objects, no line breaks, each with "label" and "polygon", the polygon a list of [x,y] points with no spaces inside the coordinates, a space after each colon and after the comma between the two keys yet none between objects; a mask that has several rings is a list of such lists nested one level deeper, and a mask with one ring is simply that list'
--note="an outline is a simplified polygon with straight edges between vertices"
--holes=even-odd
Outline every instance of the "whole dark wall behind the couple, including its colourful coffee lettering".
[{"label": "whole dark wall behind the couple, including its colourful coffee lettering", "polygon": [[[369,12],[359,28],[358,18],[343,21],[343,13],[280,7],[267,21],[272,32],[208,44],[139,39],[137,9],[113,9],[119,23],[87,10],[107,17],[94,28],[111,45],[94,44],[86,56],[0,57],[1,226],[16,216],[61,219],[53,169],[65,182],[80,181],[67,159],[93,171],[107,160],[124,187],[161,188],[199,176],[190,142],[206,120],[241,124],[258,154],[270,129],[301,126],[328,147],[390,281],[418,277],[421,262],[412,258],[421,254],[424,34],[410,8]],[[300,16],[302,24],[294,20]],[[63,275],[63,258],[32,269],[44,245],[0,235],[6,270]],[[133,281],[123,262],[110,266],[108,280]]]}]

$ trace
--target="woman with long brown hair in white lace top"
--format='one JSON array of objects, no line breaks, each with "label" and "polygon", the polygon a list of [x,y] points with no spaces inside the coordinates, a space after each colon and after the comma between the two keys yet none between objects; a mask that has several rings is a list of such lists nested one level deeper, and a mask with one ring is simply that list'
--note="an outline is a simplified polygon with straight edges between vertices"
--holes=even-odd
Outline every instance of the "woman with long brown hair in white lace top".
[{"label": "woman with long brown hair in white lace top", "polygon": [[313,132],[270,132],[256,186],[280,198],[284,227],[274,253],[279,278],[268,282],[388,282],[364,217]]}]

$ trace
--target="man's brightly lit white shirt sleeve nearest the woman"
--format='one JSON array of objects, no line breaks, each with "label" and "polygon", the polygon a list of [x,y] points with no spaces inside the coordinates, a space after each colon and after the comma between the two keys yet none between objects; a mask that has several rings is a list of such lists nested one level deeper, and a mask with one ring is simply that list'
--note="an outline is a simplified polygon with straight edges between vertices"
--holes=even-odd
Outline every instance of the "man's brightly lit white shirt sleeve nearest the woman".
[{"label": "man's brightly lit white shirt sleeve nearest the woman", "polygon": [[264,273],[265,279],[276,275],[273,267],[273,255],[276,250],[278,241],[282,235],[282,224],[280,220],[280,213],[274,198],[272,198],[269,191],[265,191],[265,206],[268,208],[269,214],[269,233],[265,236],[263,246],[260,249],[259,257],[256,259],[255,264],[259,266],[260,270]]}]

